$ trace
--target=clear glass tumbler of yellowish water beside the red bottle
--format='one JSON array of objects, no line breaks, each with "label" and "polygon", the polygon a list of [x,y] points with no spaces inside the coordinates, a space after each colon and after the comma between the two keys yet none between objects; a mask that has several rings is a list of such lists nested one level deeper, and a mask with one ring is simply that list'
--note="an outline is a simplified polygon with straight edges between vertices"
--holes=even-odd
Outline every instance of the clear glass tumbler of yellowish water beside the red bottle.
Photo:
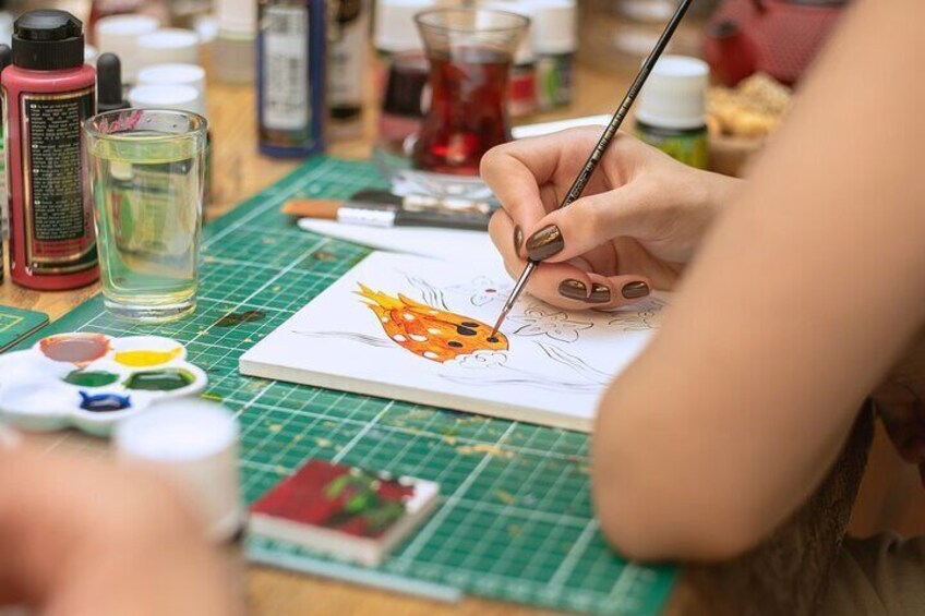
[{"label": "clear glass tumbler of yellowish water beside the red bottle", "polygon": [[164,323],[196,305],[206,120],[125,109],[84,123],[104,303]]}]

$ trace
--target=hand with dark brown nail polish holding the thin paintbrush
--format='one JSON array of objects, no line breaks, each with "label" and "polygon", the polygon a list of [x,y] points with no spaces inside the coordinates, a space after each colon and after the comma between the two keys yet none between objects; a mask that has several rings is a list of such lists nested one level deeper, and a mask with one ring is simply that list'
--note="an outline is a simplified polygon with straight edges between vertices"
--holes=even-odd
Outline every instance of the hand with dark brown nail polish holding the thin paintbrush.
[{"label": "hand with dark brown nail polish holding the thin paintbrush", "polygon": [[526,238],[550,226],[558,229],[558,252],[543,259],[529,291],[567,310],[614,309],[653,289],[673,288],[743,184],[618,134],[585,195],[558,209],[555,196],[568,190],[582,153],[599,136],[600,129],[587,126],[514,142],[492,150],[482,164],[482,177],[504,204],[490,232],[512,276],[520,274],[528,256],[539,256]]}]

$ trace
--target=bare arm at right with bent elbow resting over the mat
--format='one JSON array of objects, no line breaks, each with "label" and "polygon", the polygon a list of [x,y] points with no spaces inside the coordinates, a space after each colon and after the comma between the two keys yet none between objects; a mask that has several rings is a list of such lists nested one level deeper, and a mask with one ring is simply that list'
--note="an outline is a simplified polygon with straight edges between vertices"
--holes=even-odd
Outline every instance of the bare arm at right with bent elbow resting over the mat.
[{"label": "bare arm at right with bent elbow resting over the mat", "polygon": [[[603,399],[594,498],[624,553],[755,545],[812,493],[925,318],[922,135],[909,134],[925,104],[909,81],[923,7],[855,4],[663,330]],[[858,131],[877,117],[890,121]]]}]

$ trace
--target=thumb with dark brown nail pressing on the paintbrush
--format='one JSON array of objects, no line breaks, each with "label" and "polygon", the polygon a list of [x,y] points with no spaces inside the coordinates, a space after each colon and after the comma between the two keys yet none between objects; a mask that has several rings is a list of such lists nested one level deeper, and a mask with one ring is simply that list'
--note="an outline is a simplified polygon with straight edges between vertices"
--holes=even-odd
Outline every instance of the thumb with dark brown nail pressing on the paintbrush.
[{"label": "thumb with dark brown nail pressing on the paintbrush", "polygon": [[632,184],[627,184],[581,197],[548,214],[527,238],[527,256],[532,261],[558,263],[632,233],[630,222],[639,202],[635,193]]}]

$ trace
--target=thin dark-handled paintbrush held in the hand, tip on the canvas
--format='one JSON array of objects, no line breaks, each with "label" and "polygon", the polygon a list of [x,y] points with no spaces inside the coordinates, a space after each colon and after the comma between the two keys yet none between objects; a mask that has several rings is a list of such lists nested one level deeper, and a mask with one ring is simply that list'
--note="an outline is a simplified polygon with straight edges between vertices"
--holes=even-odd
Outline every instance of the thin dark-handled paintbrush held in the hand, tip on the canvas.
[{"label": "thin dark-handled paintbrush held in the hand, tip on the canvas", "polygon": [[[677,29],[677,24],[681,23],[681,20],[684,17],[684,13],[687,12],[687,8],[690,5],[690,2],[692,0],[682,0],[681,4],[677,5],[677,9],[674,11],[671,20],[669,20],[668,25],[665,25],[664,32],[656,41],[656,46],[652,48],[651,53],[649,53],[649,57],[646,58],[645,62],[642,62],[642,68],[639,69],[639,73],[633,81],[633,85],[629,86],[629,89],[626,92],[626,96],[623,97],[623,102],[620,104],[620,107],[614,112],[610,123],[606,125],[606,129],[604,129],[604,134],[601,135],[601,138],[598,141],[598,145],[594,146],[594,149],[591,152],[588,160],[585,161],[584,167],[581,167],[581,170],[578,172],[578,177],[575,178],[575,182],[572,184],[568,193],[566,193],[565,198],[562,200],[562,203],[558,206],[560,209],[577,201],[578,197],[581,196],[581,193],[585,192],[585,186],[588,185],[591,174],[593,174],[594,169],[598,168],[598,164],[601,161],[601,158],[603,158],[604,152],[616,135],[616,131],[620,129],[624,118],[626,118],[627,111],[629,111],[629,108],[639,95],[639,90],[642,89],[642,85],[646,83],[646,80],[649,78],[649,73],[652,72],[652,69],[656,67],[656,62],[659,61],[662,51],[664,51],[665,47],[668,47],[672,35],[674,35],[674,31]],[[492,329],[492,336],[497,334],[497,330],[501,329],[504,319],[507,318],[508,313],[517,302],[517,298],[519,298],[520,293],[524,292],[524,289],[527,287],[527,281],[530,279],[530,276],[532,276],[539,264],[539,261],[533,261],[531,258],[527,259],[527,266],[524,268],[524,273],[520,275],[520,278],[517,279],[517,283],[514,286],[514,290],[510,291],[510,297],[507,298],[507,301],[504,303],[504,307],[501,309],[501,316],[497,317],[497,323],[495,323],[494,329]]]}]

